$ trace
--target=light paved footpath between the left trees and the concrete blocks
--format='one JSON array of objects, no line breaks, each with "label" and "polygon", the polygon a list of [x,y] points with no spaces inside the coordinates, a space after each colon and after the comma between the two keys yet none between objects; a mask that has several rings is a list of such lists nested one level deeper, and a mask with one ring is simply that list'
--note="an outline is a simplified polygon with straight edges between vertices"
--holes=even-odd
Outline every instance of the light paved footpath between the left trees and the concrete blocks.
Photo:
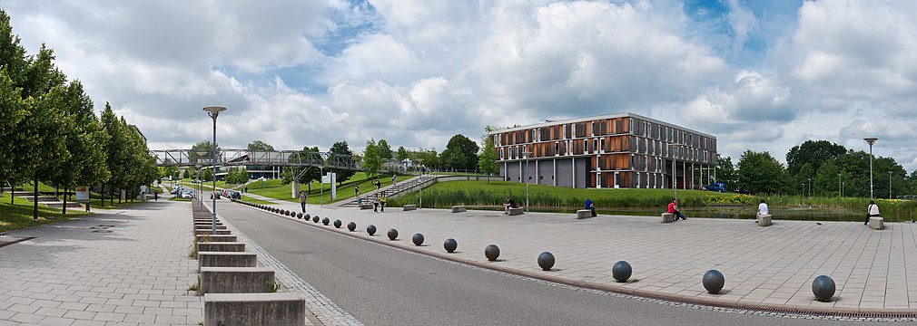
[{"label": "light paved footpath between the left trees and the concrete blocks", "polygon": [[187,202],[154,201],[7,233],[0,325],[197,325],[204,321]]}]

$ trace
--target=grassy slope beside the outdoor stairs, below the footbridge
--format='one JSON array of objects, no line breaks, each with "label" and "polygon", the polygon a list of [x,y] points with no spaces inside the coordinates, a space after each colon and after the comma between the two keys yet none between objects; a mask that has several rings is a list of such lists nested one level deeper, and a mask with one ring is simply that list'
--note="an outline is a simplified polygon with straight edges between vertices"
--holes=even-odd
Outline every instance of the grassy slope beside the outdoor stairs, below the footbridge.
[{"label": "grassy slope beside the outdoor stairs, below the footbridge", "polygon": [[[398,176],[399,182],[405,179],[410,179],[410,178],[413,178],[413,177],[412,176],[403,176],[403,175]],[[353,175],[353,177],[350,177],[350,179],[348,179],[347,181],[344,181],[343,183],[337,185],[336,201],[343,201],[349,198],[353,198],[354,186],[359,185],[360,194],[364,194],[372,190],[376,190],[375,182],[376,182],[375,176],[369,177],[367,176],[365,172],[357,172]],[[280,179],[264,180],[263,186],[261,183],[262,181],[255,181],[249,184],[249,192],[259,195],[259,196],[272,198],[275,200],[293,201],[293,202],[299,201],[293,198],[292,193],[291,193],[290,184],[284,185],[282,184],[282,180]],[[388,175],[379,176],[379,183],[381,184],[381,187],[392,185],[392,175],[388,174]],[[324,203],[332,202],[331,201],[331,185],[328,185],[328,184],[322,185],[318,181],[313,181],[309,183],[308,185],[301,184],[299,186],[299,189],[306,191],[306,193],[309,196],[310,204],[317,204],[319,202],[324,202]],[[324,190],[324,195],[322,193],[323,190]]]}]

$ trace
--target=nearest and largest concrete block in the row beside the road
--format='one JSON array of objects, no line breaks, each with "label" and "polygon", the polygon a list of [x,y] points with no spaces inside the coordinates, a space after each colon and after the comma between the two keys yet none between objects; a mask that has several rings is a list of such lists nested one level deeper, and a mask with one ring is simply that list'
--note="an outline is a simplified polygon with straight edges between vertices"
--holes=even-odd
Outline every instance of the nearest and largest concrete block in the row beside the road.
[{"label": "nearest and largest concrete block in the row beside the road", "polygon": [[204,325],[305,325],[297,293],[205,294]]}]

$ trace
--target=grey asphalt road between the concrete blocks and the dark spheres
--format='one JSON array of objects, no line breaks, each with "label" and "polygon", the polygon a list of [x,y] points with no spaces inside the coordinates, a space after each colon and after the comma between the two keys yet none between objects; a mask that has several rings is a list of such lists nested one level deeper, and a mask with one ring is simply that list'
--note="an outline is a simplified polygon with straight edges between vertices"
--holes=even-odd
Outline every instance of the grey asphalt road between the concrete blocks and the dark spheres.
[{"label": "grey asphalt road between the concrete blocks and the dark spheres", "polygon": [[[220,215],[229,223],[367,325],[870,324],[700,310],[552,286],[221,203]],[[376,236],[384,234],[380,229]],[[409,243],[406,236],[400,241]]]}]

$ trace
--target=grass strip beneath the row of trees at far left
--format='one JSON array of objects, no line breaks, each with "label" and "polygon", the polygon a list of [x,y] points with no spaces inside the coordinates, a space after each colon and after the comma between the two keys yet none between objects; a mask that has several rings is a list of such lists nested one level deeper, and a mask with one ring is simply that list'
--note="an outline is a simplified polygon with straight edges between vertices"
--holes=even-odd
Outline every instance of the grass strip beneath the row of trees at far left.
[{"label": "grass strip beneath the row of trees at far left", "polygon": [[14,198],[11,204],[9,196],[9,193],[0,195],[0,233],[66,221],[72,217],[89,214],[83,210],[69,209],[67,215],[64,215],[59,209],[42,207],[43,205],[39,204],[39,219],[35,220],[33,219],[34,206],[31,201]]}]

